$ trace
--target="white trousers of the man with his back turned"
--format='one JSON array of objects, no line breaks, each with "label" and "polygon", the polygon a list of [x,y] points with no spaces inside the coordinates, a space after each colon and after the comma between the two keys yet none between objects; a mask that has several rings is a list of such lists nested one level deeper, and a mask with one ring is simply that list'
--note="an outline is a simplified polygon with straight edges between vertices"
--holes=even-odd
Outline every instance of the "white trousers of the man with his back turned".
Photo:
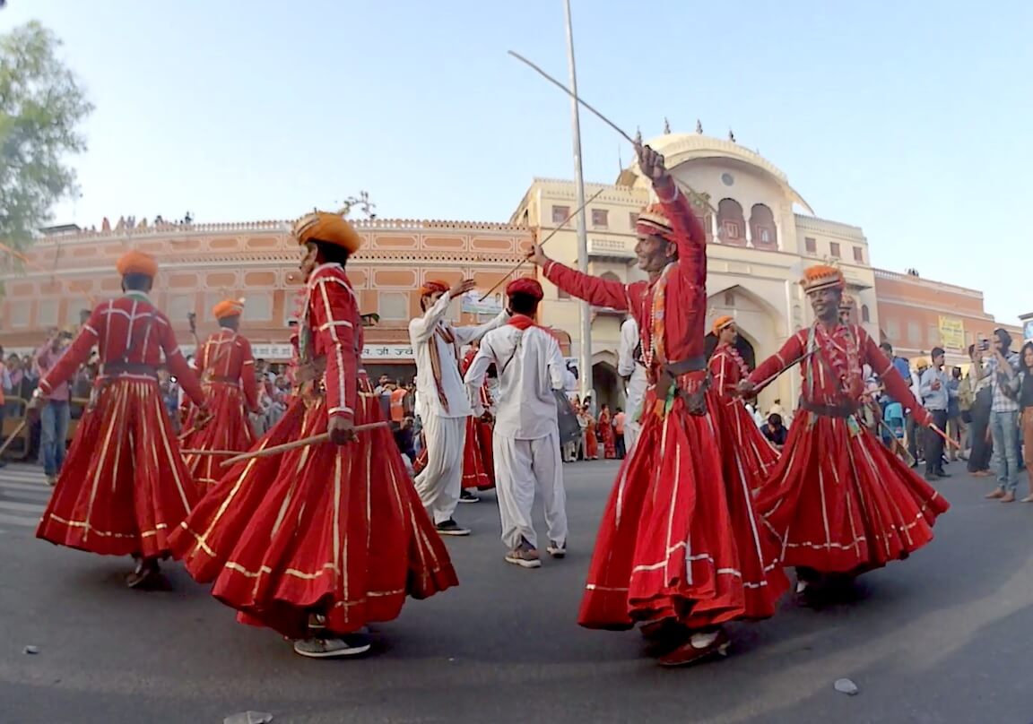
[{"label": "white trousers of the man with his back turned", "polygon": [[567,494],[563,489],[563,462],[560,459],[559,433],[537,440],[514,440],[496,434],[495,486],[502,521],[502,542],[515,548],[521,538],[538,547],[538,537],[531,522],[531,509],[537,492],[545,507],[549,539],[567,541]]}]

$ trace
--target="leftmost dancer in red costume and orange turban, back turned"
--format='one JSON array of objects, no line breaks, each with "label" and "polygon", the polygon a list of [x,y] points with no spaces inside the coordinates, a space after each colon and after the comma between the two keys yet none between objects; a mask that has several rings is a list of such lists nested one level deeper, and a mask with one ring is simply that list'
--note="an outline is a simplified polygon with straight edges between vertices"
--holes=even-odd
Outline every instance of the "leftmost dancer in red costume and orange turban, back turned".
[{"label": "leftmost dancer in red costume and orange turban, back turned", "polygon": [[164,364],[207,416],[197,376],[173,326],[148,295],[157,262],[131,251],[118,261],[125,295],[98,305],[60,361],[39,382],[46,395],[68,380],[97,345],[100,374],[91,410],[75,431],[36,536],[103,556],[136,559],[130,588],[153,583],[168,535],[197,502],[158,387]]}]

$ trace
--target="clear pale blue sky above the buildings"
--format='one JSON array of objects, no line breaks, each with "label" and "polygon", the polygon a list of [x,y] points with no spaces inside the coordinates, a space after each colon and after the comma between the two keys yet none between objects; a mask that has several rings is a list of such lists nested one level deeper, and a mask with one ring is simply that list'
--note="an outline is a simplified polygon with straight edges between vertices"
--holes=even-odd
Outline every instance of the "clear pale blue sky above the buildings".
[{"label": "clear pale blue sky above the buildings", "polygon": [[[706,132],[781,167],[877,266],[1033,311],[1033,3],[572,0],[582,94],[633,133]],[[639,12],[632,12],[633,7]],[[561,0],[8,0],[97,108],[55,221],[293,218],[368,190],[382,217],[505,221],[571,178]],[[586,178],[630,149],[583,116]]]}]

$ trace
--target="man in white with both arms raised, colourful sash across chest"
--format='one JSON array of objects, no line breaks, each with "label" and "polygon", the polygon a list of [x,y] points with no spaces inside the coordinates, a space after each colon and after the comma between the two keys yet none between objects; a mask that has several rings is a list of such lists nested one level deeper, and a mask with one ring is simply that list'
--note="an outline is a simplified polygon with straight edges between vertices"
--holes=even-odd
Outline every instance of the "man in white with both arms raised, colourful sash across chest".
[{"label": "man in white with both arms raised, colourful sash across chest", "polygon": [[449,305],[472,288],[471,280],[451,288],[443,282],[428,282],[420,288],[424,315],[409,322],[409,341],[416,357],[416,413],[424,423],[427,445],[427,467],[416,476],[415,485],[441,535],[470,534],[452,520],[463,490],[466,420],[472,413],[459,372],[460,350],[509,318],[503,312],[487,324],[449,324]]}]

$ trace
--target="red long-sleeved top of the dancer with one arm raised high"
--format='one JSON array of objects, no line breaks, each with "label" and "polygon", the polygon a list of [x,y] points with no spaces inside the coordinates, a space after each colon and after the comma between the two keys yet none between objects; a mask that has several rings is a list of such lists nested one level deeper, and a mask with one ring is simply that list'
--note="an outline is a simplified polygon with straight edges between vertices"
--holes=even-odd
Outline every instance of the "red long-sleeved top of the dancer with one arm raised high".
[{"label": "red long-sleeved top of the dancer with one arm raised high", "polygon": [[[678,246],[678,266],[667,279],[664,302],[664,348],[677,364],[705,354],[707,322],[707,234],[688,199],[668,176],[654,185]],[[545,264],[545,278],[572,296],[597,307],[630,312],[638,322],[643,349],[652,348],[655,282],[623,284],[582,274],[556,261]],[[654,361],[654,368],[657,361]],[[655,374],[655,369],[652,371]]]}]

